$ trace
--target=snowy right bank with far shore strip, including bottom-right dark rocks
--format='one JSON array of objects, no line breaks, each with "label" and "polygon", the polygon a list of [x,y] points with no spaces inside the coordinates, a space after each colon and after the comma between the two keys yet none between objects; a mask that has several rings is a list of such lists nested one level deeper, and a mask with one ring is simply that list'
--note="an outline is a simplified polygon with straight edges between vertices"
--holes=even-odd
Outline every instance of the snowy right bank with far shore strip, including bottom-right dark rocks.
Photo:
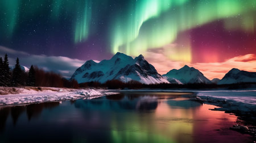
[{"label": "snowy right bank with far shore strip, including bottom-right dark rocks", "polygon": [[[212,110],[233,113],[237,124],[230,129],[251,134],[256,141],[256,90],[116,90],[117,92],[183,92],[190,100],[217,106]],[[187,96],[187,95],[186,95]],[[242,122],[241,122],[242,121]]]}]

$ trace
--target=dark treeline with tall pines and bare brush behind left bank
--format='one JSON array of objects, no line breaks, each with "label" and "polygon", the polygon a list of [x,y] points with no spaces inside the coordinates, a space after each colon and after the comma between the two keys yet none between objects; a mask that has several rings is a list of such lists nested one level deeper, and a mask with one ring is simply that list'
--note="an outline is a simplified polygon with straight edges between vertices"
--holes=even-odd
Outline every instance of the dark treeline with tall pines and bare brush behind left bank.
[{"label": "dark treeline with tall pines and bare brush behind left bank", "polygon": [[60,74],[46,72],[36,66],[31,65],[30,70],[25,72],[21,69],[19,58],[13,70],[9,68],[8,56],[5,54],[4,60],[0,57],[0,86],[44,86],[44,87],[68,87],[78,88],[77,81],[63,78]]}]

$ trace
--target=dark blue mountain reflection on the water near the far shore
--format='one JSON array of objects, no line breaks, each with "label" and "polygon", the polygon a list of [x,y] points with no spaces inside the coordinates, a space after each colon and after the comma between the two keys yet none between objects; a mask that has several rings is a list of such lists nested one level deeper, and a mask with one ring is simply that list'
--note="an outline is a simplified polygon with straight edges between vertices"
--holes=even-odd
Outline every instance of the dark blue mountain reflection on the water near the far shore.
[{"label": "dark blue mountain reflection on the water near the far shore", "polygon": [[[181,95],[189,95],[189,93],[123,93],[116,95],[108,95],[97,98],[96,100],[77,100],[75,107],[85,109],[102,108],[104,110],[138,110],[148,111],[155,110],[158,107],[159,99],[176,99]],[[106,100],[107,99],[107,100]],[[183,98],[181,98],[183,99]],[[176,101],[168,100],[167,104],[174,107],[190,108],[200,106],[200,103],[191,102],[184,98],[184,100]]]}]

